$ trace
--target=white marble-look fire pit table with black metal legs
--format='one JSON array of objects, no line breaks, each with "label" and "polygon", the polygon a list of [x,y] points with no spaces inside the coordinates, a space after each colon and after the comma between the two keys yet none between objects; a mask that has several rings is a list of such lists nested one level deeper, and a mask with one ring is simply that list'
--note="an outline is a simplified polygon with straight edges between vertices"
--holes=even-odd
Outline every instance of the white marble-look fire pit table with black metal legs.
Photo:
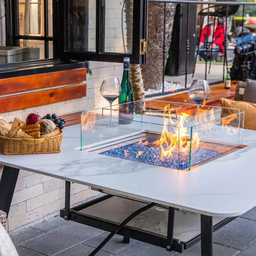
[{"label": "white marble-look fire pit table with black metal legs", "polygon": [[[129,125],[132,124],[112,129],[127,130]],[[90,139],[93,142],[93,135]],[[80,221],[80,215],[72,213],[69,207],[70,182],[91,186],[122,200],[165,207],[168,210],[166,237],[153,236],[151,231],[143,230],[138,230],[139,235],[136,236],[134,227],[126,228],[125,232],[120,229],[118,233],[124,236],[135,233],[133,238],[167,250],[182,251],[184,248],[179,239],[173,238],[174,211],[179,209],[198,214],[201,256],[212,256],[214,218],[236,217],[256,205],[256,131],[244,130],[243,144],[247,146],[190,171],[179,171],[74,149],[80,145],[80,125],[68,126],[64,128],[60,153],[0,154],[0,163],[4,165],[0,180],[0,209],[8,213],[19,169],[24,169],[66,181],[65,208],[62,210],[66,219]],[[103,212],[102,209],[100,211]],[[106,230],[118,226],[111,221],[107,226],[102,216],[100,225],[96,225],[96,218],[88,219],[90,221],[84,223],[105,227]]]}]

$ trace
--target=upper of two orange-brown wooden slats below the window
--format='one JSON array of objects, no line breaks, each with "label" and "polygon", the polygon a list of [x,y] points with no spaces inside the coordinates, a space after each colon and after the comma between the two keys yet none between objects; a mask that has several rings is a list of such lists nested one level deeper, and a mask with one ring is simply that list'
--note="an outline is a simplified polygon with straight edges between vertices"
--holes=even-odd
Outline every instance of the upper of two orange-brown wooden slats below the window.
[{"label": "upper of two orange-brown wooden slats below the window", "polygon": [[86,84],[71,85],[0,98],[0,112],[45,105],[86,96]]}]

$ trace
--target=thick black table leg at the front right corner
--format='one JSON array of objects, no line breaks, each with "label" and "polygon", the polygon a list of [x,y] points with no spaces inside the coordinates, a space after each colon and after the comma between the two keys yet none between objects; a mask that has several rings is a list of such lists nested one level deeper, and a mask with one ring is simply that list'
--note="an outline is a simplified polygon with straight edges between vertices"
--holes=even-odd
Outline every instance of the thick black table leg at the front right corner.
[{"label": "thick black table leg at the front right corner", "polygon": [[213,256],[212,217],[201,214],[201,256]]}]

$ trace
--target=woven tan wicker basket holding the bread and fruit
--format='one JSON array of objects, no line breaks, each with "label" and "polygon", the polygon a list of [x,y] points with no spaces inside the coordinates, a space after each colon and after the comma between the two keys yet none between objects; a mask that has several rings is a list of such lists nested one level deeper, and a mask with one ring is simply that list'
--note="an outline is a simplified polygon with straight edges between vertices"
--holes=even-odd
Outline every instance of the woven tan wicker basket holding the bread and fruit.
[{"label": "woven tan wicker basket holding the bread and fruit", "polygon": [[59,153],[63,131],[52,137],[42,138],[9,138],[0,136],[0,147],[3,154],[41,154]]}]

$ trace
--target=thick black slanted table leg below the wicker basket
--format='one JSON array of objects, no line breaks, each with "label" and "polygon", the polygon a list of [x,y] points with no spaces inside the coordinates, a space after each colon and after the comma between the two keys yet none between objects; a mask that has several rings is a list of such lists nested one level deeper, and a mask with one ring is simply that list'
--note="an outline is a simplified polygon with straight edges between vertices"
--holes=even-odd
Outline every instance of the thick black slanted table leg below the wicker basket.
[{"label": "thick black slanted table leg below the wicker basket", "polygon": [[19,169],[3,166],[0,179],[0,209],[8,215]]}]

